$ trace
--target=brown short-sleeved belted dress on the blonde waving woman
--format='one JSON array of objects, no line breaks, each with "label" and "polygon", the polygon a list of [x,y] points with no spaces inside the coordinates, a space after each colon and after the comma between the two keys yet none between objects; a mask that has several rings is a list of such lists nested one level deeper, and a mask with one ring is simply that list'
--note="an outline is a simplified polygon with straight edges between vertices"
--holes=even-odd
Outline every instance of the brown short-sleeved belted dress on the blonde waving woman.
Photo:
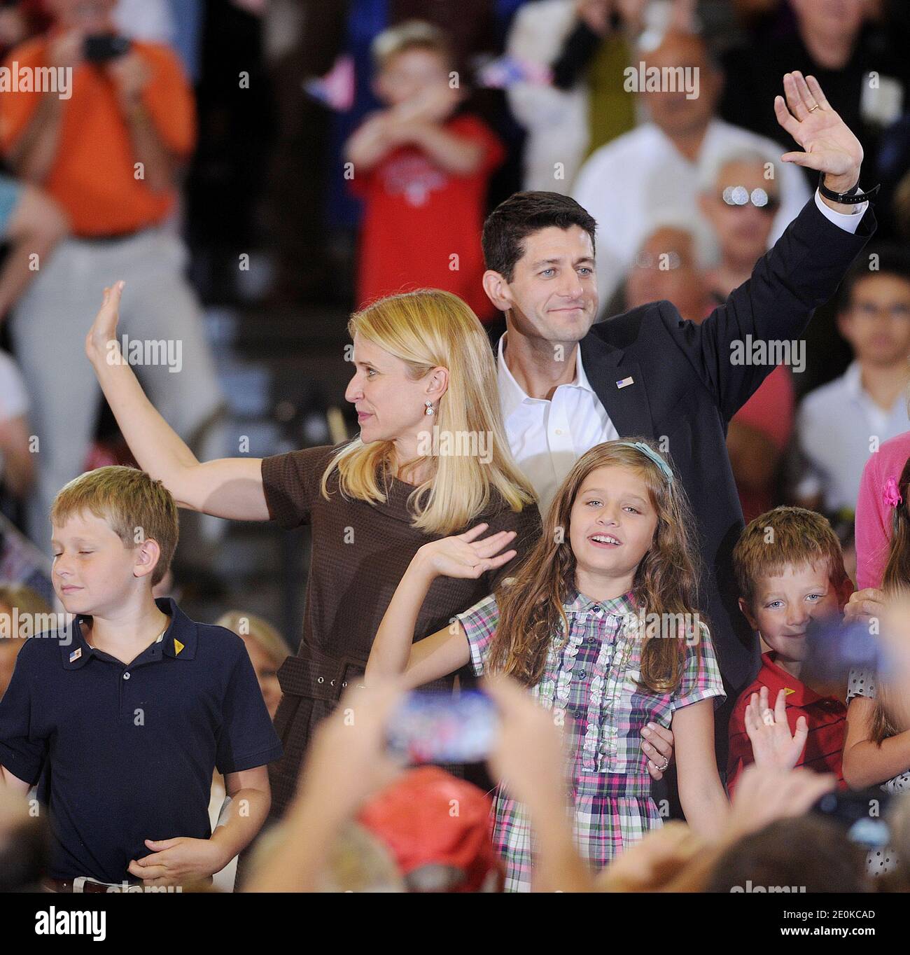
[{"label": "brown short-sleeved belted dress on the blonde waving woman", "polygon": [[[271,519],[288,529],[308,523],[312,532],[303,638],[297,655],[278,671],[283,695],[275,728],[285,754],[268,768],[273,817],[284,814],[294,794],[313,728],[334,709],[347,683],[363,675],[376,630],[417,548],[437,540],[413,528],[407,506],[413,485],[396,478],[385,503],[368,504],[345,499],[335,472],[325,499],[320,482],[337,450],[307,448],[263,460]],[[536,504],[516,513],[500,499],[469,526],[481,520],[490,524],[487,534],[517,531],[512,546],[518,557],[476,581],[435,580],[417,617],[415,639],[447,626],[491,593],[540,536]]]}]

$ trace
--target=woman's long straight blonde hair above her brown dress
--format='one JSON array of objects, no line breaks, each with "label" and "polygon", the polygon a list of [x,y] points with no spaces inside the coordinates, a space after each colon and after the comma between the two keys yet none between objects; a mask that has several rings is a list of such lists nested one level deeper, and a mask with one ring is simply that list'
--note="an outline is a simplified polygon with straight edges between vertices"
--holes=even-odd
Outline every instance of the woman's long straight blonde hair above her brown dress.
[{"label": "woman's long straight blonde hair above her brown dress", "polygon": [[[412,462],[430,465],[430,477],[409,499],[414,527],[444,537],[474,520],[494,494],[513,511],[534,501],[502,425],[493,350],[477,316],[457,295],[438,288],[389,295],[355,312],[348,330],[351,338],[360,335],[405,362],[413,381],[436,367],[449,370],[449,388],[428,417],[428,435],[435,426],[440,438],[486,435],[490,442],[486,464],[474,454],[429,454]],[[328,499],[328,477],[337,470],[344,497],[384,502],[393,447],[392,441],[364,444],[354,438],[328,462],[323,496]]]}]

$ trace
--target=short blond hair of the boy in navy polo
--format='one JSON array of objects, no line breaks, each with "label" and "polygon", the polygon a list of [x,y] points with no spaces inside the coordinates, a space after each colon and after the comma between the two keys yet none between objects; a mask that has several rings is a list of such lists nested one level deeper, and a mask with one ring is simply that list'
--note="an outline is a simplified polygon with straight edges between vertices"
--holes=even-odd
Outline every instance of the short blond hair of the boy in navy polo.
[{"label": "short blond hair of the boy in navy polo", "polygon": [[123,546],[131,550],[142,541],[157,541],[160,556],[152,571],[159,584],[177,549],[179,519],[171,492],[138,468],[110,465],[74,477],[57,492],[51,522],[60,526],[74,514],[88,511],[106,520]]}]

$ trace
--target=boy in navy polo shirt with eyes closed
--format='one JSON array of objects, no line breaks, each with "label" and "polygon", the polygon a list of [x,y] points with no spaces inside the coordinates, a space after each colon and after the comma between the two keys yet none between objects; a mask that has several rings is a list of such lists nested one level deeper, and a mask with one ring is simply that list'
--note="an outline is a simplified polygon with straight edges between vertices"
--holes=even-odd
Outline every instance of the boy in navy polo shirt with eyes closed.
[{"label": "boy in navy polo shirt with eyes closed", "polygon": [[[178,538],[160,481],[90,471],[51,522],[54,589],[75,616],[19,652],[0,700],[3,782],[39,783],[59,891],[205,879],[263,825],[282,754],[243,641],[152,596]],[[231,802],[213,834],[216,767]]]}]

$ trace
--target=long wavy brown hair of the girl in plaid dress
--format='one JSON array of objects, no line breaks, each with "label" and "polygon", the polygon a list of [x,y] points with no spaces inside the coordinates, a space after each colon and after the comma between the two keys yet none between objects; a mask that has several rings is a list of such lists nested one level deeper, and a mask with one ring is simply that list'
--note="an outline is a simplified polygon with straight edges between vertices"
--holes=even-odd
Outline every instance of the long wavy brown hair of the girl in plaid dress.
[{"label": "long wavy brown hair of the girl in plaid dress", "polygon": [[[627,440],[643,441],[661,454],[645,438]],[[660,614],[662,620],[667,619],[665,614],[685,614],[688,617],[683,619],[691,619],[697,613],[694,520],[679,477],[674,474],[667,481],[654,461],[625,440],[599,444],[578,459],[562,482],[547,512],[542,537],[518,566],[511,584],[497,588],[499,622],[490,647],[490,669],[509,673],[526,686],[540,683],[551,643],[564,641],[568,634],[562,605],[575,586],[576,560],[569,535],[572,505],[584,479],[603,467],[630,468],[640,474],[657,511],[654,539],[635,571],[632,589],[637,610]],[[681,631],[679,639],[647,639],[639,681],[643,688],[659,693],[676,689],[685,662],[685,637]]]}]

